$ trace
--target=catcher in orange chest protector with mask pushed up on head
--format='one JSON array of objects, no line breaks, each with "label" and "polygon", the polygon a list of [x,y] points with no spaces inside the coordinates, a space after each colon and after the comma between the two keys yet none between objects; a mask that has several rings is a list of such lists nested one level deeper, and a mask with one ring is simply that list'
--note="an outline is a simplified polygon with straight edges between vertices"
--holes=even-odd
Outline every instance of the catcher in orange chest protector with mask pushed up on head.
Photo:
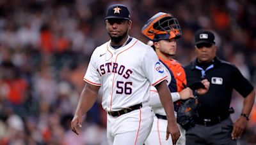
[{"label": "catcher in orange chest protector with mask pushed up on head", "polygon": [[[177,49],[176,40],[179,39],[180,36],[182,36],[179,22],[172,15],[159,12],[147,21],[147,23],[143,26],[141,32],[144,36],[146,36],[146,38],[153,42],[152,48],[154,48],[157,56],[159,57],[159,60],[161,61],[161,63],[163,63],[162,66],[165,66],[165,72],[168,73],[167,83],[170,92],[172,92],[175,115],[177,116],[177,112],[179,111],[179,106],[181,104],[189,104],[190,109],[180,109],[180,111],[186,111],[186,113],[179,113],[180,116],[182,116],[180,122],[183,123],[183,127],[193,126],[189,125],[191,121],[193,123],[193,119],[191,120],[190,115],[195,114],[193,111],[195,111],[196,109],[196,104],[194,104],[195,107],[191,106],[191,103],[193,104],[193,102],[196,102],[193,96],[193,90],[191,90],[191,88],[189,87],[186,88],[187,81],[184,69],[179,64],[179,62],[173,59],[173,56],[175,55]],[[198,94],[207,92],[209,88],[209,81],[207,81],[207,79],[204,79],[202,81],[202,84],[204,87],[196,90]],[[150,135],[148,135],[145,145],[172,144],[172,139],[169,138],[166,141],[166,114],[164,113],[164,109],[161,106],[161,102],[159,100],[159,95],[154,86],[152,86],[150,93],[151,94],[149,102],[155,116],[152,130],[150,132]],[[180,99],[189,99],[189,101],[186,103],[182,103]],[[182,108],[186,108],[186,106]],[[189,114],[188,118],[184,116],[186,114]],[[184,128],[180,127],[179,124],[178,126],[180,129],[180,138],[177,141],[177,144],[185,144],[186,131]]]}]

